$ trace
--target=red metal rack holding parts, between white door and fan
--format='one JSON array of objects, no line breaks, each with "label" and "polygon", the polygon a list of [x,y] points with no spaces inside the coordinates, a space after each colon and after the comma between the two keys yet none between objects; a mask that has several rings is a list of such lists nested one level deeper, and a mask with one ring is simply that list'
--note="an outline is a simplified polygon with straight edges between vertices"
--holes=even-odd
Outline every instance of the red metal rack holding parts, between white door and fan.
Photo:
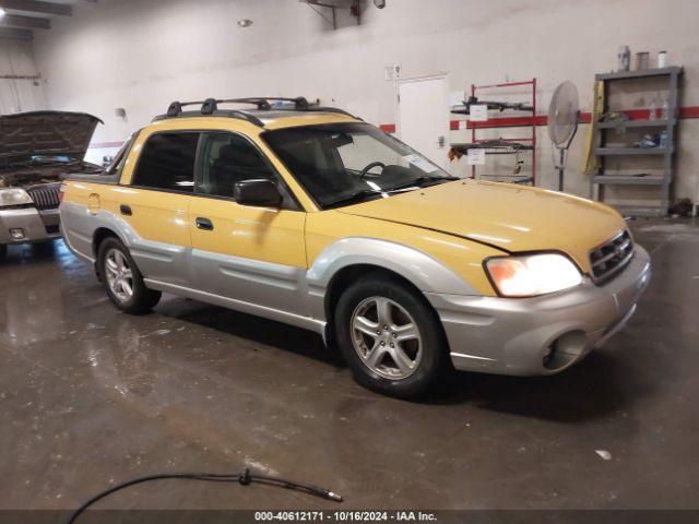
[{"label": "red metal rack holding parts, between white door and fan", "polygon": [[[521,136],[521,138],[500,138],[499,140],[506,142],[516,142],[516,143],[531,143],[532,148],[526,150],[532,152],[532,172],[530,177],[522,178],[520,180],[516,180],[516,183],[529,183],[532,186],[536,186],[536,79],[526,80],[522,82],[506,82],[502,84],[483,84],[483,85],[471,85],[471,96],[477,97],[478,90],[499,90],[507,87],[518,87],[522,85],[529,85],[532,90],[532,105],[531,116],[526,117],[508,117],[508,118],[489,118],[484,122],[467,122],[467,127],[471,128],[471,142],[477,144],[479,142],[487,142],[486,140],[478,140],[476,136],[476,131],[478,129],[493,129],[493,128],[531,128],[530,136]],[[512,153],[516,153],[514,151]],[[472,166],[472,177],[476,178],[476,166]]]}]

